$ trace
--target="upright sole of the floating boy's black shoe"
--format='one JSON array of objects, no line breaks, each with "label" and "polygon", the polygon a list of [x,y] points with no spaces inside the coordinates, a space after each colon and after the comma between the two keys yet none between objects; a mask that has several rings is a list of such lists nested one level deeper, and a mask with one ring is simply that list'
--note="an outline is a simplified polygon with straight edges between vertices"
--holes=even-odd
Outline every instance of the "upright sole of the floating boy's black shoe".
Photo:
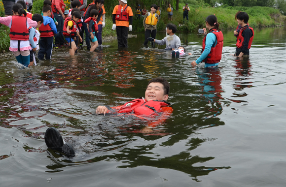
[{"label": "upright sole of the floating boy's black shoe", "polygon": [[61,148],[64,146],[62,135],[55,127],[49,127],[46,130],[45,143],[48,148]]}]

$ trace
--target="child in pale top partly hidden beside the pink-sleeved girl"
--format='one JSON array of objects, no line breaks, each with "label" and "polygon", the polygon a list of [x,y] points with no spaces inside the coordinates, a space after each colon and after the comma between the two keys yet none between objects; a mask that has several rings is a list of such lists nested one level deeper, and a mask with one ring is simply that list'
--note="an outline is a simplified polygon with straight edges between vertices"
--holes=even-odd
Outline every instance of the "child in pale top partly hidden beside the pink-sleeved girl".
[{"label": "child in pale top partly hidden beside the pink-sleeved girl", "polygon": [[39,49],[39,38],[40,38],[40,32],[38,30],[36,30],[36,28],[39,28],[42,23],[44,22],[44,19],[42,17],[42,15],[40,14],[34,14],[32,17],[33,21],[37,22],[37,26],[36,27],[29,27],[29,42],[30,45],[33,49],[30,50],[30,64],[29,67],[31,65],[33,65],[33,63],[35,62],[36,65],[36,58],[35,58],[35,52],[36,50]]}]

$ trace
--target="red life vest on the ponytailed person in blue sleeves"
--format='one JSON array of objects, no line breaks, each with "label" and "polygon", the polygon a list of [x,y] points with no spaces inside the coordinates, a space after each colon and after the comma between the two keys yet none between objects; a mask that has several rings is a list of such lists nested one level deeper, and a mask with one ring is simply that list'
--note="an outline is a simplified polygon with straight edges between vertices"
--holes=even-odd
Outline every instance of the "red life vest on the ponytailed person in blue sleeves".
[{"label": "red life vest on the ponytailed person in blue sleeves", "polygon": [[[209,53],[209,55],[204,60],[205,63],[217,63],[221,60],[221,52],[222,52],[222,47],[223,47],[223,34],[221,31],[218,31],[218,32],[216,32],[216,31],[217,30],[214,28],[212,28],[210,30],[210,32],[215,34],[217,43],[214,47],[212,46],[211,52]],[[203,40],[202,52],[206,48],[206,38],[207,38],[207,35],[204,37],[204,40]]]}]

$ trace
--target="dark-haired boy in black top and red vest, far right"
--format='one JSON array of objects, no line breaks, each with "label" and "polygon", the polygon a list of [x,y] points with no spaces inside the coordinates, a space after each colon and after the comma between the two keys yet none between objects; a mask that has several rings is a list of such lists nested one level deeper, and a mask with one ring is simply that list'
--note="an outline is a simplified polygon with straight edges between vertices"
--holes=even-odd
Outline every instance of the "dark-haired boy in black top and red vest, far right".
[{"label": "dark-haired boy in black top and red vest, far right", "polygon": [[249,49],[254,37],[254,31],[248,26],[249,16],[246,12],[238,13],[236,18],[238,25],[241,25],[241,29],[236,40],[235,56],[243,57],[244,55],[249,55]]}]

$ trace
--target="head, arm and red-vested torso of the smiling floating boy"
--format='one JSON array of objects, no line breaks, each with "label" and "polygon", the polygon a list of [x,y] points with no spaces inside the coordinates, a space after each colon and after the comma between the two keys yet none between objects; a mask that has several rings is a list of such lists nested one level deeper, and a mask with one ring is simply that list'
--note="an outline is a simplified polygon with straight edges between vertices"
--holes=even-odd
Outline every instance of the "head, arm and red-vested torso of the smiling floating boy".
[{"label": "head, arm and red-vested torso of the smiling floating boy", "polygon": [[170,84],[165,78],[153,78],[147,85],[145,98],[142,97],[134,99],[122,106],[112,108],[98,106],[96,109],[96,114],[133,114],[137,117],[143,118],[153,116],[158,113],[163,113],[163,120],[165,120],[166,115],[170,115],[173,111],[173,109],[170,107],[170,103],[166,101],[169,98],[169,90]]}]

